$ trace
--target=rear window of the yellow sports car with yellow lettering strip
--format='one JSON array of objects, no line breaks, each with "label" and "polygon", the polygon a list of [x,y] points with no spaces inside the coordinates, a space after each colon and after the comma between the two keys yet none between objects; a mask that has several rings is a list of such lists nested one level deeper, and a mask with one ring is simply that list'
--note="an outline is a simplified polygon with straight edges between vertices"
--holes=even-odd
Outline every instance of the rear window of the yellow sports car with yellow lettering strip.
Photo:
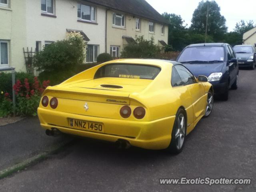
[{"label": "rear window of the yellow sports car with yellow lettering strip", "polygon": [[138,64],[107,64],[99,68],[94,79],[103,77],[154,79],[161,69],[156,66]]}]

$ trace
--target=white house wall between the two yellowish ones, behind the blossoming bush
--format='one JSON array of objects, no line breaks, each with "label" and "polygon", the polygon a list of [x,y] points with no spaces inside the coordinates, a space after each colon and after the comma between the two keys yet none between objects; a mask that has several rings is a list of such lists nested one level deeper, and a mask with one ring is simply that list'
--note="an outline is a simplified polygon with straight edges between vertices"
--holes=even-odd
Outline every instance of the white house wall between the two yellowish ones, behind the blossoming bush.
[{"label": "white house wall between the two yellowish ones, behind the blossoming bush", "polygon": [[[90,39],[88,44],[100,45],[99,53],[105,52],[105,8],[96,8],[96,23],[77,20],[76,0],[56,0],[56,18],[41,15],[41,0],[27,0],[27,46],[35,49],[36,41],[57,41],[66,38],[66,29],[82,30]],[[84,2],[83,2],[84,3]],[[90,4],[88,4],[90,5]]]}]

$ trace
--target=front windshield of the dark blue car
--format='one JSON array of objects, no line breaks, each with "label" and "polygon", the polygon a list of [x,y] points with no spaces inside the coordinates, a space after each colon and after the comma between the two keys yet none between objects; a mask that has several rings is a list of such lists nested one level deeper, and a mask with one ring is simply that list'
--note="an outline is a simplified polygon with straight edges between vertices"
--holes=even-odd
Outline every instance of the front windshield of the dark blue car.
[{"label": "front windshield of the dark blue car", "polygon": [[222,46],[188,47],[182,52],[178,62],[213,60],[224,61],[224,48]]}]

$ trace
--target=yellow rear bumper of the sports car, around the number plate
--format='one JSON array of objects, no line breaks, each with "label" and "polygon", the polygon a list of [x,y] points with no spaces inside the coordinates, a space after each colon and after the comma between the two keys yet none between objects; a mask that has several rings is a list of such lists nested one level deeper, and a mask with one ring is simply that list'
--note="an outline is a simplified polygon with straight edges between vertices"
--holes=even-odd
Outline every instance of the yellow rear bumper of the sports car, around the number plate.
[{"label": "yellow rear bumper of the sports car, around the number plate", "polygon": [[[66,134],[110,142],[124,139],[128,140],[132,146],[153,150],[165,149],[169,146],[175,121],[175,116],[142,122],[83,116],[44,108],[38,108],[38,117],[44,129],[58,128]],[[104,124],[105,132],[98,133],[70,128],[69,118],[101,122]]]}]

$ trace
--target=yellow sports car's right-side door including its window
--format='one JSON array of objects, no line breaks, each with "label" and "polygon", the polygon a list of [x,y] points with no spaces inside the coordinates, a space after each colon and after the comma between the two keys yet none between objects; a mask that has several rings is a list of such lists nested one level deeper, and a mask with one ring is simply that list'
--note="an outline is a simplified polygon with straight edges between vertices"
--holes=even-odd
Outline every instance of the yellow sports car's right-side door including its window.
[{"label": "yellow sports car's right-side door including its window", "polygon": [[197,122],[202,115],[204,115],[206,106],[204,85],[197,82],[193,74],[183,65],[176,65],[175,68],[180,75],[183,85],[187,87],[190,92],[194,115],[193,120]]}]

